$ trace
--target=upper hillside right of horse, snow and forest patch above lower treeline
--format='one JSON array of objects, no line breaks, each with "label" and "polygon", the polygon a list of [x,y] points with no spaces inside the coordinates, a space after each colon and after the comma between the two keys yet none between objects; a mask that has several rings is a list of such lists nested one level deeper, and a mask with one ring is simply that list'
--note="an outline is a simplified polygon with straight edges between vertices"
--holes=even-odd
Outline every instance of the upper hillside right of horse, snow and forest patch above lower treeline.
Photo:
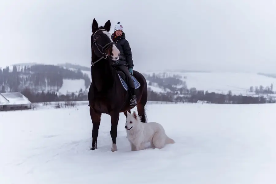
[{"label": "upper hillside right of horse, snow and forest patch above lower treeline", "polygon": [[[159,87],[159,91],[179,91],[181,88],[196,88],[220,94],[229,91],[236,95],[255,94],[255,88],[264,88],[276,84],[276,78],[256,73],[231,73],[231,72],[145,72],[149,86]],[[150,82],[151,81],[151,82]],[[250,90],[253,86],[254,90]],[[261,87],[260,87],[261,86]],[[154,88],[153,88],[154,89]]]}]

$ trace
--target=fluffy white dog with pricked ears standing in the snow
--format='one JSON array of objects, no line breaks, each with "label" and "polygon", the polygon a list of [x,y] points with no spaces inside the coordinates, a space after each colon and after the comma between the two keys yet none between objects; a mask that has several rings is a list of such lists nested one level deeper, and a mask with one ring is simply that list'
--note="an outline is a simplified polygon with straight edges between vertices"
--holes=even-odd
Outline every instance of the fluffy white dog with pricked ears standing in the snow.
[{"label": "fluffy white dog with pricked ears standing in the snow", "polygon": [[131,145],[131,151],[145,149],[144,144],[151,143],[152,148],[164,148],[166,144],[173,144],[174,140],[169,138],[162,125],[156,122],[143,123],[140,117],[133,111],[128,112],[125,129],[127,138]]}]

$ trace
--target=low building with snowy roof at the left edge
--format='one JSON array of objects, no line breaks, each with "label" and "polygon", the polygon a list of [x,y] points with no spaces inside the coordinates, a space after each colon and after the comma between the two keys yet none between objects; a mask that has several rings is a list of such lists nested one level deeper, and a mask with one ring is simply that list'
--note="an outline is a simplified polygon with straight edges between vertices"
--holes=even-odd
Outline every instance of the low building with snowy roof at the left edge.
[{"label": "low building with snowy roof at the left edge", "polygon": [[31,109],[32,102],[23,94],[0,93],[0,111]]}]

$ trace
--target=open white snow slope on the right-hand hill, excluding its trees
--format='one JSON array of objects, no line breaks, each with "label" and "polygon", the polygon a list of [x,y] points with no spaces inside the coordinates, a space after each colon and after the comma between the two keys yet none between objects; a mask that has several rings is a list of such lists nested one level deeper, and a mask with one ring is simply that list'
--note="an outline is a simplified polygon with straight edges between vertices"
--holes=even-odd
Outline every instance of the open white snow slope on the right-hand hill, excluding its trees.
[{"label": "open white snow slope on the right-hand hill, excluding its trees", "polygon": [[[153,74],[154,72],[145,72]],[[162,76],[164,72],[160,74]],[[181,75],[182,80],[186,81],[187,87],[195,87],[197,90],[204,90],[210,93],[227,94],[229,90],[232,94],[252,94],[249,91],[250,86],[270,86],[276,84],[276,78],[258,75],[256,73],[234,73],[234,72],[165,72],[166,77],[172,75]],[[180,87],[180,86],[178,86]]]}]

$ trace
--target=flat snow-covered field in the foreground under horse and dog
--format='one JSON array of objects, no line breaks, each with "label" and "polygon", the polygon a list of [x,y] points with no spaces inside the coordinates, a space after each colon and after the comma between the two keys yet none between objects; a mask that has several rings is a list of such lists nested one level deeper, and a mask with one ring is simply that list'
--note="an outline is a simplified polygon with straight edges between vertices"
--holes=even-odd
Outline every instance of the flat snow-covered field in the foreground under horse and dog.
[{"label": "flat snow-covered field in the foreground under horse and dog", "polygon": [[175,144],[130,151],[121,113],[111,152],[102,115],[91,151],[89,107],[0,112],[0,183],[265,184],[276,181],[275,104],[150,104]]}]

